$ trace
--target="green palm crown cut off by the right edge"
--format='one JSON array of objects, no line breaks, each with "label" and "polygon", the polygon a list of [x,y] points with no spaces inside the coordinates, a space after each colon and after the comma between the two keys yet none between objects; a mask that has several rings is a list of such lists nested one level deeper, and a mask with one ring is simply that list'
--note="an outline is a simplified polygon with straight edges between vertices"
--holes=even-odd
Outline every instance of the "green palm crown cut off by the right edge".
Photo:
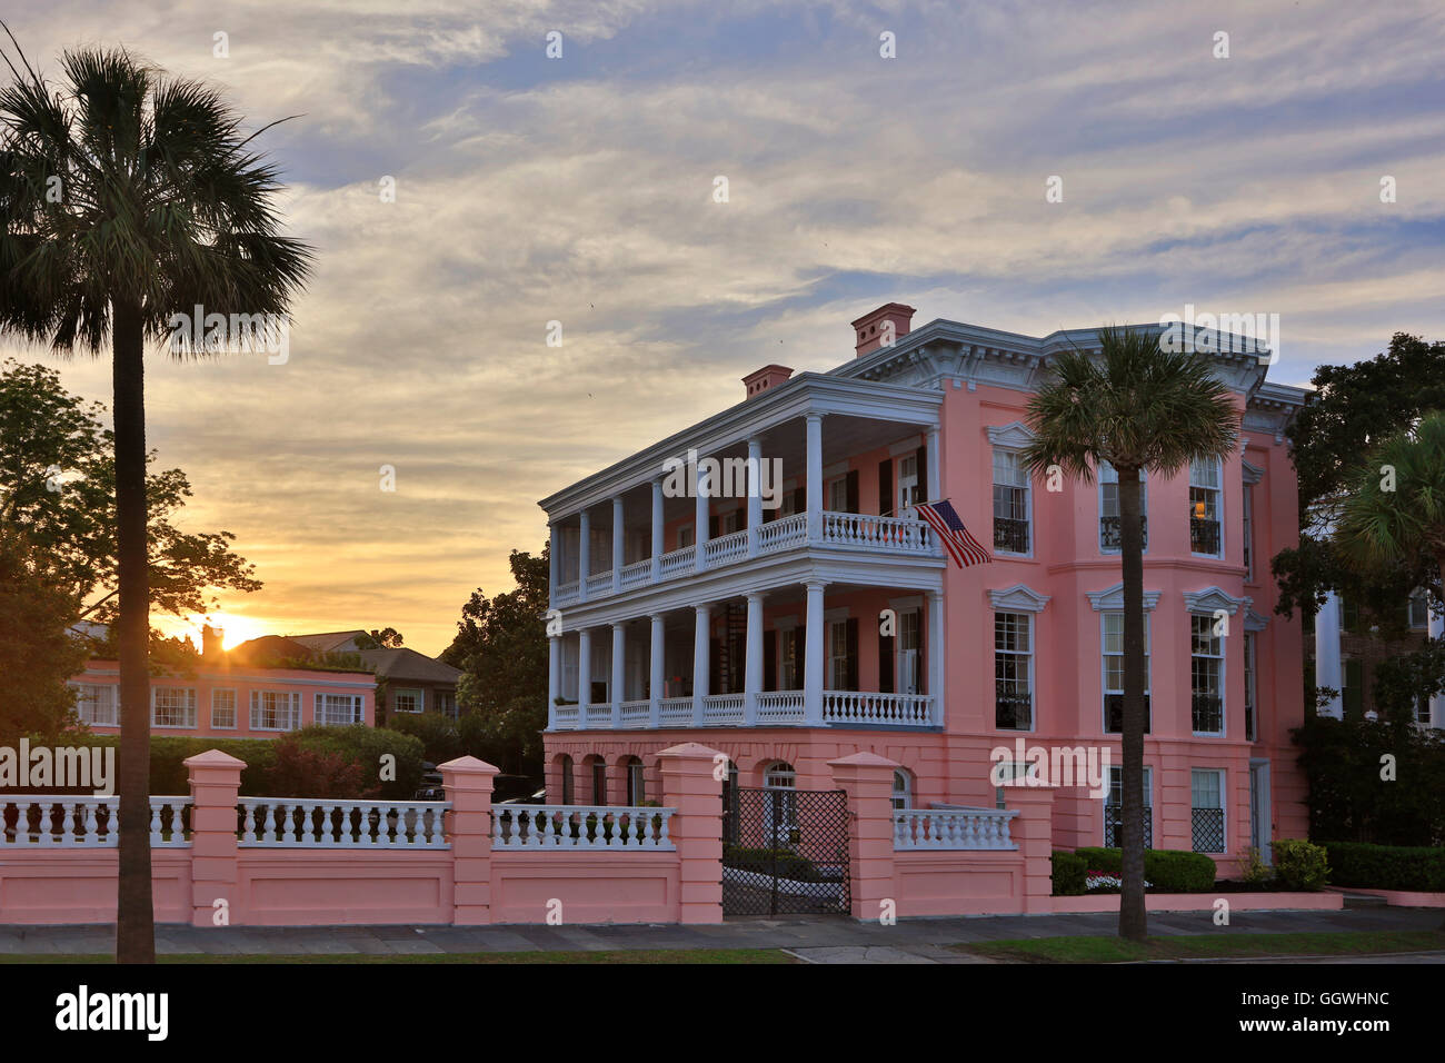
[{"label": "green palm crown cut off by the right edge", "polygon": [[1445,412],[1387,437],[1355,473],[1335,542],[1364,571],[1439,579],[1445,600]]}]

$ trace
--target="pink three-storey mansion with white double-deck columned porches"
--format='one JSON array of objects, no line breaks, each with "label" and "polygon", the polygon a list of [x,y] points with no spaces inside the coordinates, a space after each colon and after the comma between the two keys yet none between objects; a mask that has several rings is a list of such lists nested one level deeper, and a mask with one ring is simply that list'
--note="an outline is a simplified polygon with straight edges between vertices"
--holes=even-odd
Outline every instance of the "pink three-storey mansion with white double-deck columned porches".
[{"label": "pink three-storey mansion with white double-deck columned porches", "polygon": [[[689,740],[738,787],[825,790],[829,761],[886,756],[900,810],[1003,807],[991,751],[1019,738],[1118,765],[1117,489],[1108,469],[1046,484],[1019,458],[1051,357],[1097,331],[910,330],[912,312],[873,311],[845,364],[766,366],[744,401],[540,502],[551,801],[642,804],[659,751]],[[1146,483],[1146,837],[1227,872],[1306,829],[1300,628],[1273,615],[1269,573],[1298,535],[1283,430],[1303,392],[1253,351],[1198,357],[1241,432],[1222,461]],[[750,458],[780,483],[681,492],[689,454],[689,477]],[[938,499],[991,563],[949,561],[915,511]],[[1101,797],[1055,793],[1056,848],[1117,843],[1117,772]]]}]

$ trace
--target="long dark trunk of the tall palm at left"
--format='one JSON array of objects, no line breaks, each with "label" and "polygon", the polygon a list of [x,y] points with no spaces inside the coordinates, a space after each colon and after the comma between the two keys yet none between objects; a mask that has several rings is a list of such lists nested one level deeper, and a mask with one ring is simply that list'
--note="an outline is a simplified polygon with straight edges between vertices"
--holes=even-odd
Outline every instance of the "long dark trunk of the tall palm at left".
[{"label": "long dark trunk of the tall palm at left", "polygon": [[134,307],[113,304],[116,558],[120,570],[120,879],[116,960],[155,963],[150,900],[150,579],[146,548],[144,334]]}]

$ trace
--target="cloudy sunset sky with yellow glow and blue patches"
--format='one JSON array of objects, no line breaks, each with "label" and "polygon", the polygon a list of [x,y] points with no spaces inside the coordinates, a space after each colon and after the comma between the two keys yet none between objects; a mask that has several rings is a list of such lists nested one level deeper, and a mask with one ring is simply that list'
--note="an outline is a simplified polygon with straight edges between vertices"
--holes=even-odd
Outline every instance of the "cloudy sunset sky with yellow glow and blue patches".
[{"label": "cloudy sunset sky with yellow glow and blue patches", "polygon": [[[65,48],[124,45],[249,129],[298,116],[259,140],[316,250],[286,362],[147,362],[149,443],[194,489],[179,524],[234,532],[264,583],[221,597],[228,644],[393,626],[439,652],[474,589],[512,589],[509,552],[540,550],[538,499],[736,404],[759,366],[847,362],[883,302],[1033,336],[1279,314],[1270,379],[1296,385],[1396,331],[1445,338],[1438,1],[4,19],[52,75]],[[105,362],[0,354],[108,402]]]}]

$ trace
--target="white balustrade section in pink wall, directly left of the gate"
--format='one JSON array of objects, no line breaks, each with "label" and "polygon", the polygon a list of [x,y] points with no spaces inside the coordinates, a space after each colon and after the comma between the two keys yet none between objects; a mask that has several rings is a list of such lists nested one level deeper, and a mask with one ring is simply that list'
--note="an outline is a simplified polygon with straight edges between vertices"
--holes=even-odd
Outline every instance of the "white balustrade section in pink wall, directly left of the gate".
[{"label": "white balustrade section in pink wall, directly left of the gate", "polygon": [[494,849],[670,850],[668,823],[676,808],[592,804],[497,804]]}]

